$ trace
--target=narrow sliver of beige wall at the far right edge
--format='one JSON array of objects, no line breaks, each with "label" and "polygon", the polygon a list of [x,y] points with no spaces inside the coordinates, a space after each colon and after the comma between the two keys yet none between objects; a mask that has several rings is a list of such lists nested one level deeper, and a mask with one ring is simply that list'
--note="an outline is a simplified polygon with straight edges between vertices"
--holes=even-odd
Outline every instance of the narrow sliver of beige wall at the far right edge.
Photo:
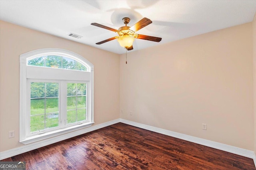
[{"label": "narrow sliver of beige wall at the far right edge", "polygon": [[256,14],[252,21],[253,48],[253,88],[254,88],[254,153],[256,154]]}]

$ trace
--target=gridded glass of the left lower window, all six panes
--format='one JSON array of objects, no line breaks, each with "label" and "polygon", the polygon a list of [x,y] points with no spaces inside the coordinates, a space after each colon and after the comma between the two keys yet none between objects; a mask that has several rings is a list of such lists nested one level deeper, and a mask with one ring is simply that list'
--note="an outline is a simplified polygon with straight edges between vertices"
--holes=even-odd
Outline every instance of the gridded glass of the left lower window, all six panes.
[{"label": "gridded glass of the left lower window, all six panes", "polygon": [[30,133],[59,126],[59,83],[30,82]]}]

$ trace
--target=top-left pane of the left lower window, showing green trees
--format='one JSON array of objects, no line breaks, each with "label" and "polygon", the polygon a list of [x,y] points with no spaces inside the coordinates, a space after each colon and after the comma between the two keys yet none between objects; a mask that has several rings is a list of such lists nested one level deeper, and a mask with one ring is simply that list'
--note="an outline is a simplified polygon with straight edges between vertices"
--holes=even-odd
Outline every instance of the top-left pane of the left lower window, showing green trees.
[{"label": "top-left pane of the left lower window, showing green trees", "polygon": [[30,84],[30,88],[31,88],[30,98],[44,98],[45,83],[32,82]]}]

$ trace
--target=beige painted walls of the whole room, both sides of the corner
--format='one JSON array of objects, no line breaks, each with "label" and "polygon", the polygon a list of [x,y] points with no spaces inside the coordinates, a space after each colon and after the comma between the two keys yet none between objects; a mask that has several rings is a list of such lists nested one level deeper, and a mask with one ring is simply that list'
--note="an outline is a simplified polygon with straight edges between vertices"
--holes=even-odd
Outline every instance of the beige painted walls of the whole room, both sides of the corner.
[{"label": "beige painted walls of the whole room, both sides of the corner", "polygon": [[[0,21],[0,152],[22,146],[19,56],[41,48],[70,50],[94,64],[95,125],[121,117],[256,151],[252,25],[255,30],[255,18],[252,23],[134,51],[125,64],[125,55],[119,59],[114,53]],[[124,113],[119,115],[121,109]],[[16,134],[9,139],[12,130]]]}]

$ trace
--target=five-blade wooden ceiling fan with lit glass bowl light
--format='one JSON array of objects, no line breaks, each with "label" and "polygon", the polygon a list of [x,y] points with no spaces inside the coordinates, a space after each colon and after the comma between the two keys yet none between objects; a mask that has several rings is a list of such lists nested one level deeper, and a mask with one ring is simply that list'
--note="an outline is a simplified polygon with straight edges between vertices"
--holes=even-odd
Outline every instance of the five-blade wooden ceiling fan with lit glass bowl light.
[{"label": "five-blade wooden ceiling fan with lit glass bowl light", "polygon": [[110,28],[105,25],[101,25],[99,23],[91,23],[91,25],[94,25],[96,27],[101,27],[101,28],[108,29],[110,31],[114,31],[114,32],[118,33],[118,36],[115,36],[115,37],[112,37],[109,39],[105,39],[104,41],[100,41],[96,44],[103,44],[108,41],[118,39],[117,41],[121,47],[124,47],[127,50],[132,50],[133,49],[132,43],[133,43],[134,39],[136,39],[136,38],[145,39],[148,41],[155,41],[155,42],[160,42],[162,40],[162,38],[159,38],[159,37],[152,37],[152,36],[148,36],[148,35],[142,35],[142,34],[135,33],[136,31],[138,31],[138,30],[142,29],[143,27],[146,27],[147,25],[152,23],[152,21],[148,18],[142,18],[142,20],[135,23],[132,27],[127,26],[127,24],[130,22],[130,18],[125,17],[122,19],[122,21],[125,24],[125,26],[120,27],[119,29]]}]

